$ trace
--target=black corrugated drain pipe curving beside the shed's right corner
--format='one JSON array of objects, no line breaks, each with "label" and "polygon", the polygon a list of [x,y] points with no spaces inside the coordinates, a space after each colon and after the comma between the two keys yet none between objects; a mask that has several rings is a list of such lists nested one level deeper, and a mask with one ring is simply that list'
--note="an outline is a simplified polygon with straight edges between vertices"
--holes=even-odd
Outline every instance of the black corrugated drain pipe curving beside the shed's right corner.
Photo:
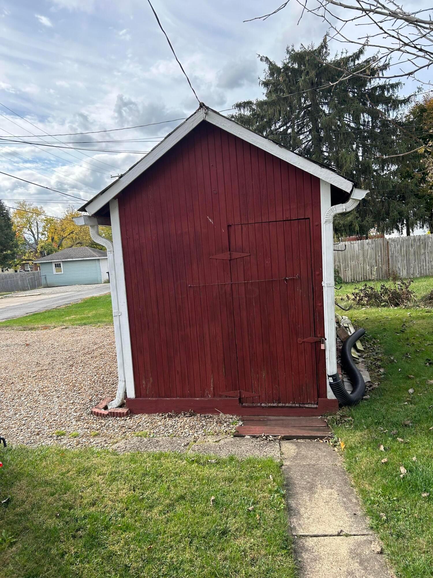
[{"label": "black corrugated drain pipe curving beside the shed's right corner", "polygon": [[328,376],[331,390],[338,399],[340,405],[356,405],[364,397],[365,381],[360,370],[354,364],[352,357],[352,347],[354,343],[356,343],[364,334],[365,329],[357,329],[357,331],[352,335],[349,335],[341,348],[341,366],[349,377],[353,390],[350,392],[346,390],[338,373]]}]

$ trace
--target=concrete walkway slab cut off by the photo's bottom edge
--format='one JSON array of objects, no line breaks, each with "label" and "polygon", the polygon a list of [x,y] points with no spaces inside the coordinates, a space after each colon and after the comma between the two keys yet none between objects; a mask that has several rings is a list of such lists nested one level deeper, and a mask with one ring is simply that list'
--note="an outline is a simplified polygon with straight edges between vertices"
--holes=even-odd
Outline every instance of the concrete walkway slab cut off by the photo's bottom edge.
[{"label": "concrete walkway slab cut off by the photo's bottom edge", "polygon": [[296,538],[299,578],[391,578],[374,536]]}]

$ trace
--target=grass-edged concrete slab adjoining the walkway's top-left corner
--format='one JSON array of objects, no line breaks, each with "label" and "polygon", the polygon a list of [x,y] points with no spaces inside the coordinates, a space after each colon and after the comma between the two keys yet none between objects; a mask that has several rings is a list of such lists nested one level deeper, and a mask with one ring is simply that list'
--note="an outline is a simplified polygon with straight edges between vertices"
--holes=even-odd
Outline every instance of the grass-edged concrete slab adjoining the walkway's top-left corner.
[{"label": "grass-edged concrete slab adjoining the walkway's top-left corner", "polygon": [[192,446],[189,453],[214,454],[223,458],[228,455],[235,455],[240,460],[248,457],[281,460],[278,440],[260,438],[231,438],[227,436],[215,442],[200,442],[199,440]]}]

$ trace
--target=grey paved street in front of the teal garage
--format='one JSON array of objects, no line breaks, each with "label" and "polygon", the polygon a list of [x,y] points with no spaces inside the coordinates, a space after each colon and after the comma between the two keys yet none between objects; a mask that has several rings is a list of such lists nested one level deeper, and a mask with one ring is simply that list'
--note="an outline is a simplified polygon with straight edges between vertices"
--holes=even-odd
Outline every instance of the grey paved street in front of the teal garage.
[{"label": "grey paved street in front of the teal garage", "polygon": [[55,309],[61,305],[76,303],[86,297],[94,297],[109,292],[109,283],[23,291],[0,299],[0,321],[23,317],[29,313],[37,313],[47,309]]}]

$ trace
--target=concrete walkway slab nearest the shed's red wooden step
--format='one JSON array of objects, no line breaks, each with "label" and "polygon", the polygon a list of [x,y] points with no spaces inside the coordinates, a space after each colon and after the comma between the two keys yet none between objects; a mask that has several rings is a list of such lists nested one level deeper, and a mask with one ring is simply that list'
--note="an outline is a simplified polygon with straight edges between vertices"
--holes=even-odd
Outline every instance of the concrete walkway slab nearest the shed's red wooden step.
[{"label": "concrete walkway slab nearest the shed's red wooden step", "polygon": [[341,465],[285,465],[283,472],[294,535],[371,534]]}]

